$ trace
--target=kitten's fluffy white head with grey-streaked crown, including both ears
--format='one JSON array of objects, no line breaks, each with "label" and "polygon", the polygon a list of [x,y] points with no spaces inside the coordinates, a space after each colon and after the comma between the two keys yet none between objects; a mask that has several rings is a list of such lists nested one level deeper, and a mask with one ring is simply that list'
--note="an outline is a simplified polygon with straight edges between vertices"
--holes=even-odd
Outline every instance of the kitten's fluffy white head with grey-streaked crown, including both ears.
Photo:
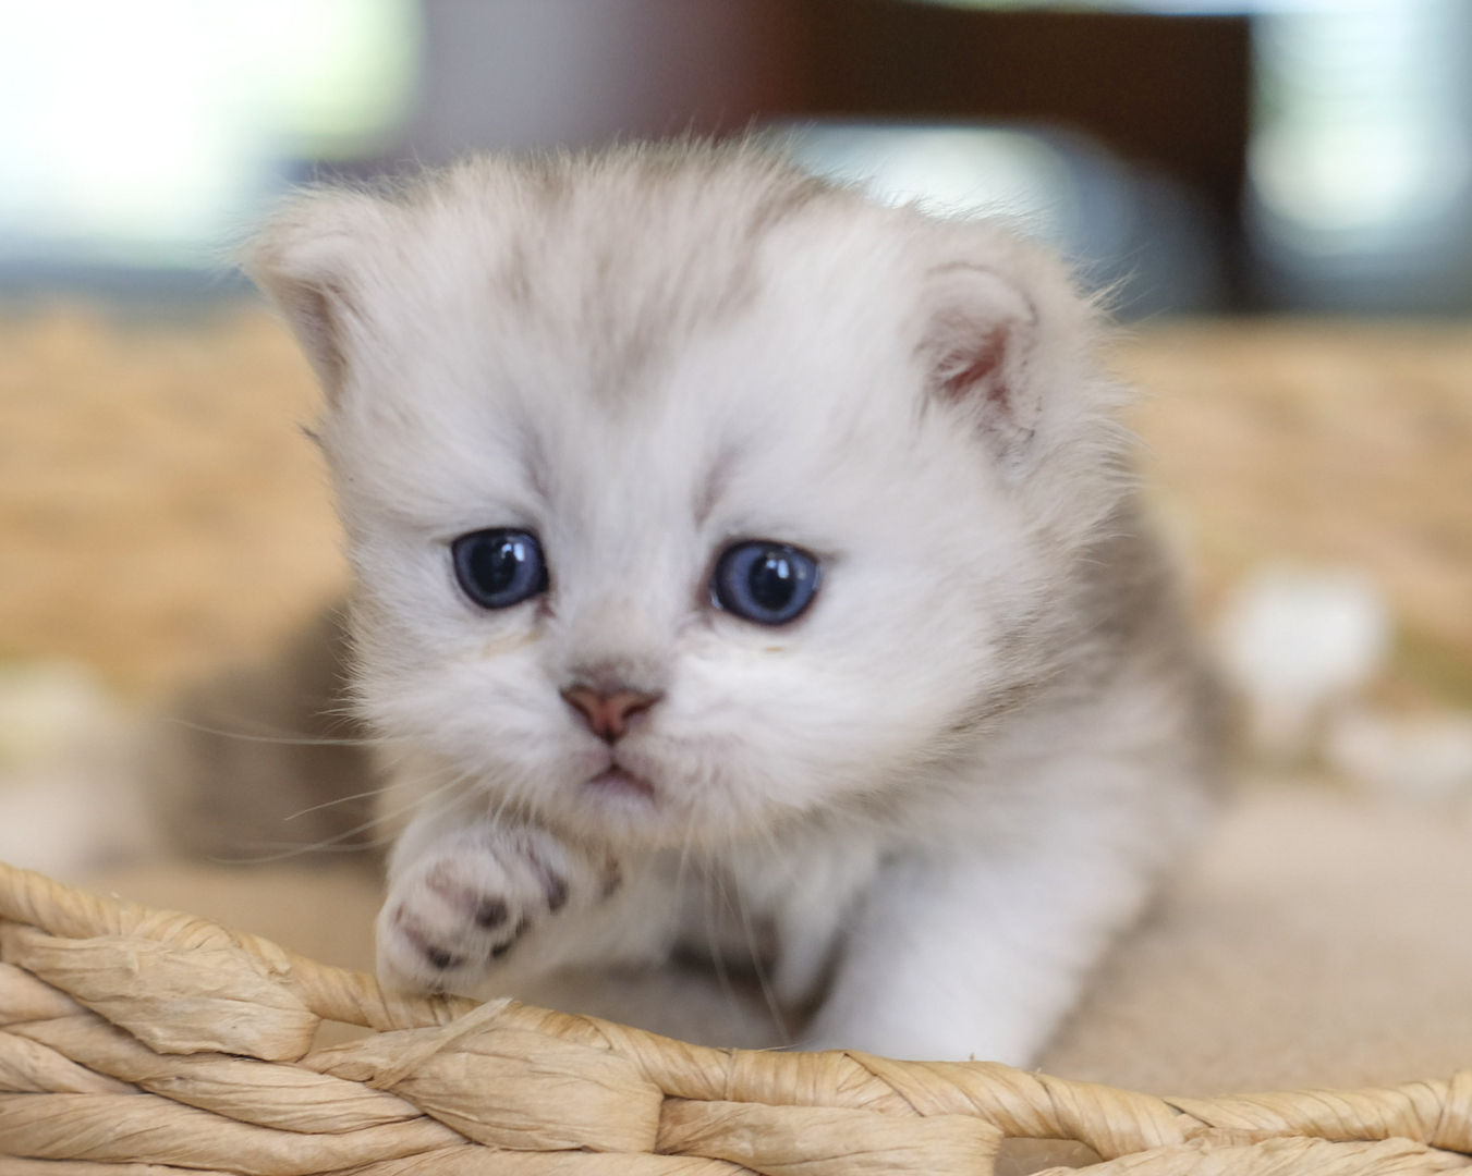
[{"label": "kitten's fluffy white head with grey-streaked crown, including both ears", "polygon": [[938,779],[1122,493],[1054,263],[752,147],[319,191],[249,268],[327,390],[364,714],[586,837]]}]

